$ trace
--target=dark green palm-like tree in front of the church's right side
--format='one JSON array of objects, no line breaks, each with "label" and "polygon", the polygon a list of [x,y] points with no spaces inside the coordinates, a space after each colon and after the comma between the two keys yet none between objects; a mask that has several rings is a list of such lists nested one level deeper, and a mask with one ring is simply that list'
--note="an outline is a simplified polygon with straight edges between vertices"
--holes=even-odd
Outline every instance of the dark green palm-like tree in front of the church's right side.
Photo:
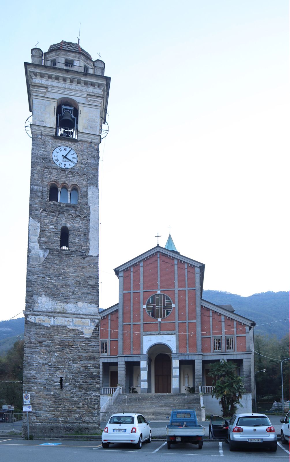
[{"label": "dark green palm-like tree in front of the church's right side", "polygon": [[228,417],[236,412],[237,405],[241,404],[243,393],[246,391],[243,385],[242,377],[236,374],[236,364],[226,362],[224,359],[220,362],[211,364],[208,373],[212,380],[212,395],[219,399],[222,407],[223,417]]}]

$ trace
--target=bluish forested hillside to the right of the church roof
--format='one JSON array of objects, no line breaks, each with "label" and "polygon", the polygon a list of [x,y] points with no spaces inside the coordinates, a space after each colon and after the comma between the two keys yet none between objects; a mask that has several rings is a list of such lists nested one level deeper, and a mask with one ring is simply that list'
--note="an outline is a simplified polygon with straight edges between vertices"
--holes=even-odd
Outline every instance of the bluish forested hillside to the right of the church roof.
[{"label": "bluish forested hillside to the right of the church roof", "polygon": [[[216,305],[232,305],[237,314],[257,324],[255,334],[276,335],[281,339],[289,333],[289,292],[262,292],[242,297],[229,292],[204,290],[202,298]],[[286,321],[275,322],[280,319]]]}]

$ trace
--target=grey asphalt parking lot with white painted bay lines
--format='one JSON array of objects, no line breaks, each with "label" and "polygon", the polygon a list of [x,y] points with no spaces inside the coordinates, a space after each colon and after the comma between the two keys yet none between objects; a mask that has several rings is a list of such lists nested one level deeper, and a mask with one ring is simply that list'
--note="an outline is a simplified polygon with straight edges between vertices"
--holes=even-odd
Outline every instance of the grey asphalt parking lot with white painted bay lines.
[{"label": "grey asphalt parking lot with white painted bay lines", "polygon": [[[278,442],[277,452],[267,450],[238,450],[230,452],[229,445],[225,442],[207,441],[201,450],[192,444],[176,444],[167,449],[165,441],[152,441],[144,443],[140,450],[136,450],[131,444],[112,444],[109,449],[103,449],[101,442],[96,441],[64,441],[64,440],[0,440],[1,460],[21,460],[22,462],[79,462],[79,460],[90,458],[110,462],[112,458],[118,462],[135,462],[136,457],[145,458],[148,462],[159,462],[160,459],[170,457],[170,462],[180,462],[181,457],[199,457],[199,460],[214,462],[220,457],[226,457],[227,462],[245,462],[245,458],[255,462],[265,460],[277,461],[289,460],[289,447]],[[100,453],[100,454],[97,454]]]}]

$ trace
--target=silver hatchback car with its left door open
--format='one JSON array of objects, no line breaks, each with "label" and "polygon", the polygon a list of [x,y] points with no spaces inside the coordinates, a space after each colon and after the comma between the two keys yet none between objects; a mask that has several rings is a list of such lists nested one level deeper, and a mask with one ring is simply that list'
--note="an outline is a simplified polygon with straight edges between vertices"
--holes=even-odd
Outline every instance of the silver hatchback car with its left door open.
[{"label": "silver hatchback car with its left door open", "polygon": [[210,438],[225,438],[230,451],[238,448],[266,448],[277,451],[277,435],[265,414],[234,414],[229,420],[220,415],[211,415]]}]

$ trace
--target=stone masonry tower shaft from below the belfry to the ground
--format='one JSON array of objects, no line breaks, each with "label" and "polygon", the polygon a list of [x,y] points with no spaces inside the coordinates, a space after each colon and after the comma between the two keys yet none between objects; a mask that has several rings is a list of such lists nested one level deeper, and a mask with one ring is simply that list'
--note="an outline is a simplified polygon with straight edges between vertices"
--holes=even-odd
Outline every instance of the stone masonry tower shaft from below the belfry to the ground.
[{"label": "stone masonry tower shaft from below the belfry to the ground", "polygon": [[[95,432],[100,425],[98,312],[98,143],[34,134],[24,332],[24,391],[30,434]],[[79,156],[57,168],[52,151]],[[78,204],[49,201],[49,184],[79,190]],[[60,250],[60,229],[69,249]],[[60,389],[62,377],[62,389]],[[26,435],[27,427],[23,426]]]}]

